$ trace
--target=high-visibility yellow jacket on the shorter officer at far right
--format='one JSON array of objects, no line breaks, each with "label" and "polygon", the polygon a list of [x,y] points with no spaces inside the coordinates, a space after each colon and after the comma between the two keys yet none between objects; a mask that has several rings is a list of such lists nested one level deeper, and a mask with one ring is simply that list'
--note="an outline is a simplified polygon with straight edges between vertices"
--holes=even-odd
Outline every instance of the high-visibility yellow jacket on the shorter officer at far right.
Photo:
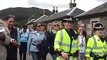
[{"label": "high-visibility yellow jacket on the shorter officer at far right", "polygon": [[85,56],[90,58],[91,52],[98,56],[104,56],[105,54],[107,54],[106,46],[107,45],[105,41],[102,42],[97,35],[94,35],[93,37],[88,39]]}]

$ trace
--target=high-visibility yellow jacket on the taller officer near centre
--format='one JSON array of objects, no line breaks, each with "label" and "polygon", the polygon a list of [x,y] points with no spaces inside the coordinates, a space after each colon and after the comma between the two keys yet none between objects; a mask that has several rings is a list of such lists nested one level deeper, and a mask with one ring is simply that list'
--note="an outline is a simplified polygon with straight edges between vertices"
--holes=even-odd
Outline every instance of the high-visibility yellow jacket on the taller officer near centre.
[{"label": "high-visibility yellow jacket on the taller officer near centre", "polygon": [[[76,34],[76,31],[74,32]],[[55,36],[54,49],[55,50],[59,49],[59,50],[62,50],[63,52],[69,52],[71,54],[75,53],[79,47],[78,40],[73,38],[72,46],[70,46],[70,43],[71,43],[70,36],[68,35],[65,29],[62,29],[58,31]],[[70,48],[71,48],[71,51],[70,51]]]}]

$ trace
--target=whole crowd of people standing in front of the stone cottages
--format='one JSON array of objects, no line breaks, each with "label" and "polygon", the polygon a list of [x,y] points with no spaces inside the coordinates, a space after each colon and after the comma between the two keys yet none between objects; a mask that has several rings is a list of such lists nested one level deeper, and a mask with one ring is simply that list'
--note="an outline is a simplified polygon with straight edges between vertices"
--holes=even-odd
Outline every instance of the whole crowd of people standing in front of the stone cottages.
[{"label": "whole crowd of people standing in front of the stone cottages", "polygon": [[45,23],[34,23],[32,29],[26,24],[20,29],[14,27],[15,16],[9,15],[0,20],[0,60],[20,60],[31,55],[33,60],[46,60],[48,53],[53,60],[106,60],[107,40],[104,26],[96,23],[93,35],[87,36],[86,25],[81,23],[74,28],[74,21],[52,22],[48,31]]}]

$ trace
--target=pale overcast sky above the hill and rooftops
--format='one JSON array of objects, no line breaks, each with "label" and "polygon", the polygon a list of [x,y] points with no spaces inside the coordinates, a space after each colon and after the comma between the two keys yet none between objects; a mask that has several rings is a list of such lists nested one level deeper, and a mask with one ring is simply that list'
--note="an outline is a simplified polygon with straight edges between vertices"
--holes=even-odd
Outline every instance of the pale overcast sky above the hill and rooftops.
[{"label": "pale overcast sky above the hill and rooftops", "polygon": [[[77,7],[88,11],[106,0],[76,0]],[[9,7],[38,7],[52,11],[53,6],[58,7],[59,11],[69,9],[70,0],[0,0],[0,10]]]}]

